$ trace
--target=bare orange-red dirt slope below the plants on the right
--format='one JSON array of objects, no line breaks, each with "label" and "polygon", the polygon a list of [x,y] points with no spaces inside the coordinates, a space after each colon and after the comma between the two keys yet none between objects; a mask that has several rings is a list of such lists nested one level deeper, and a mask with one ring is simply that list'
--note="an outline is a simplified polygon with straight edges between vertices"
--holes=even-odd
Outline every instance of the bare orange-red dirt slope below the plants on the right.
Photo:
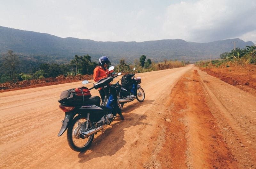
[{"label": "bare orange-red dirt slope below the plants on the right", "polygon": [[256,93],[256,65],[231,66],[231,67],[200,67],[208,74],[220,78],[242,90]]}]

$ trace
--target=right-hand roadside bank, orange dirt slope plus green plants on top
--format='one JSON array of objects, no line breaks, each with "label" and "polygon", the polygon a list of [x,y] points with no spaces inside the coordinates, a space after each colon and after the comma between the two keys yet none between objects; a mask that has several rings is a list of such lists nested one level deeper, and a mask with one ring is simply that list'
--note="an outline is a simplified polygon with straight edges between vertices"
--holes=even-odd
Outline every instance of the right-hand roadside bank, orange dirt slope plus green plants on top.
[{"label": "right-hand roadside bank, orange dirt slope plus green plants on top", "polygon": [[220,54],[218,60],[199,61],[196,65],[208,74],[256,95],[256,46],[236,48]]}]

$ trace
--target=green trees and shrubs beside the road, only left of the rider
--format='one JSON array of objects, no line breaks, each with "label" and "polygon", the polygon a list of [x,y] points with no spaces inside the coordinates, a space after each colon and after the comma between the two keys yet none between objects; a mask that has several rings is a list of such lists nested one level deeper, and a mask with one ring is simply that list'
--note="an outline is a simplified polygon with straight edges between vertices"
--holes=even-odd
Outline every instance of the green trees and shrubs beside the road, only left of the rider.
[{"label": "green trees and shrubs beside the road, only left of the rider", "polygon": [[32,79],[44,79],[48,77],[57,77],[59,75],[64,76],[76,76],[78,74],[93,74],[93,69],[98,65],[91,61],[91,56],[75,55],[74,59],[67,64],[58,63],[42,63],[39,66],[32,68],[31,73],[20,72],[18,69],[20,65],[20,58],[12,50],[8,50],[3,54],[0,83],[3,82],[15,82]]}]

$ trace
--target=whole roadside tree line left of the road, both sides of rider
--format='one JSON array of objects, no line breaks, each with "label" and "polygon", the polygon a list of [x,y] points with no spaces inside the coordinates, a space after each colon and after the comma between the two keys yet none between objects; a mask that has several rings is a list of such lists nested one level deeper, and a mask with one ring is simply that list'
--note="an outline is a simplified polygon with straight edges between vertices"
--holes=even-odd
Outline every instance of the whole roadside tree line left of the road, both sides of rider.
[{"label": "whole roadside tree line left of the road, both sides of rider", "polygon": [[[180,67],[188,64],[189,62],[180,62],[176,66],[171,66],[171,61],[165,63],[153,63],[149,58],[147,59],[145,55],[140,56],[139,59],[135,59],[133,64],[126,63],[125,59],[120,59],[120,62],[115,67],[116,72],[129,73],[132,71],[133,67],[136,67],[136,71],[147,72],[152,70],[161,70],[165,68]],[[174,63],[174,62],[172,62]],[[158,64],[158,65],[157,65]],[[7,53],[3,55],[3,64],[0,73],[0,83],[4,82],[16,82],[24,80],[33,80],[33,79],[44,79],[44,78],[55,78],[60,75],[76,76],[76,75],[85,75],[93,74],[94,68],[98,65],[96,62],[91,61],[91,56],[84,55],[78,56],[75,55],[73,60],[70,60],[67,64],[58,64],[58,63],[42,63],[39,66],[32,68],[31,73],[21,72],[20,69],[17,69],[20,65],[19,56],[13,51],[8,50]]]}]

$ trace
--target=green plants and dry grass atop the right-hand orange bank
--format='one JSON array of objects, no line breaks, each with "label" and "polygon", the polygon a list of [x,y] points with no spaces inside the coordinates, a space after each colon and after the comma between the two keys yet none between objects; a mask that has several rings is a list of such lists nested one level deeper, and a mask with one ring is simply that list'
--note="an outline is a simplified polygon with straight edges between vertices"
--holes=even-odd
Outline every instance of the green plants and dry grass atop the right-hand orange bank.
[{"label": "green plants and dry grass atop the right-hand orange bank", "polygon": [[199,67],[230,67],[256,64],[256,46],[236,47],[230,52],[220,54],[218,60],[204,60],[196,62]]}]

